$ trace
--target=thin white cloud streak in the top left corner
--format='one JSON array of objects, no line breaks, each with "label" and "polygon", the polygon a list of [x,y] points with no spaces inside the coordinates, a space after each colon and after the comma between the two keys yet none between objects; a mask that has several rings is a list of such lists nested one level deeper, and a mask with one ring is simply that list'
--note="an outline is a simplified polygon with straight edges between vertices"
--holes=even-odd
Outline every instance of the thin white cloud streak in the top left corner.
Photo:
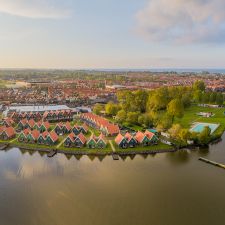
[{"label": "thin white cloud streak in the top left corner", "polygon": [[70,10],[57,6],[56,0],[0,0],[0,13],[29,18],[64,18]]}]

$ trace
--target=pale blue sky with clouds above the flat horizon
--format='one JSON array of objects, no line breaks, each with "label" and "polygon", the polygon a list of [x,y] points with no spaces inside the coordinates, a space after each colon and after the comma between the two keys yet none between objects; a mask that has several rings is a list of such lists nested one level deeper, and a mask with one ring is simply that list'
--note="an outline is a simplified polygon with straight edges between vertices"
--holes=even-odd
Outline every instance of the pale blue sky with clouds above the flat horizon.
[{"label": "pale blue sky with clouds above the flat horizon", "polygon": [[0,68],[225,68],[224,0],[0,0]]}]

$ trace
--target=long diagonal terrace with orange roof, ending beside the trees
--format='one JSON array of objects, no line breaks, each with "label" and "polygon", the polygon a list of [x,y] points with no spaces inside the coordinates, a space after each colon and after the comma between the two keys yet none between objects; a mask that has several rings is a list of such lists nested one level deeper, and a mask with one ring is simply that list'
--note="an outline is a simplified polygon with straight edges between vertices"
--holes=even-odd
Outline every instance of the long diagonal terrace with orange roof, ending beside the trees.
[{"label": "long diagonal terrace with orange roof, ending beside the trees", "polygon": [[100,130],[106,136],[116,136],[120,132],[118,125],[93,113],[83,113],[80,115],[80,119],[86,122],[90,127]]}]

